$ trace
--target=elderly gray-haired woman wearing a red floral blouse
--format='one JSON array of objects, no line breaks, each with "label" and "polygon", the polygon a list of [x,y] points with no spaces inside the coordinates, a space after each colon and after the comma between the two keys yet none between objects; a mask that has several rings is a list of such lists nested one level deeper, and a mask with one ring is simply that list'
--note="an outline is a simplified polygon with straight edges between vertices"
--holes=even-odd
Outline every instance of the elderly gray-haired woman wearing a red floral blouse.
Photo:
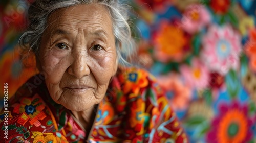
[{"label": "elderly gray-haired woman wearing a red floral blouse", "polygon": [[127,17],[114,0],[36,0],[20,45],[40,74],[2,111],[1,139],[188,142],[154,77],[125,66],[135,51]]}]

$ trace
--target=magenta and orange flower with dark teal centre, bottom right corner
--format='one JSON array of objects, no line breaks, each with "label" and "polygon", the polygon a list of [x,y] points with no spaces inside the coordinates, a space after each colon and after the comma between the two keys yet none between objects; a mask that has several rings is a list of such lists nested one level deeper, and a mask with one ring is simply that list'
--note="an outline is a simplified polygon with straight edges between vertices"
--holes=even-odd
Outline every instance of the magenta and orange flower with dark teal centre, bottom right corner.
[{"label": "magenta and orange flower with dark teal centre, bottom right corner", "polygon": [[219,106],[220,114],[212,121],[207,142],[248,142],[252,137],[252,120],[248,107],[233,101],[230,105]]}]

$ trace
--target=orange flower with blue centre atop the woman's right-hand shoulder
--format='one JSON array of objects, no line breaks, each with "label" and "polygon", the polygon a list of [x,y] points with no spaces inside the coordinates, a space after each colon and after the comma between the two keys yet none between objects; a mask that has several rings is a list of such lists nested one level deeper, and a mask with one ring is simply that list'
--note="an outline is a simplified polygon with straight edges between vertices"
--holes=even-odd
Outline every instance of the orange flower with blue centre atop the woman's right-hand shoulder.
[{"label": "orange flower with blue centre atop the woman's right-hand shoulder", "polygon": [[148,73],[142,69],[127,68],[125,73],[121,74],[120,79],[124,83],[123,92],[128,93],[132,91],[135,95],[139,93],[141,88],[148,85]]}]

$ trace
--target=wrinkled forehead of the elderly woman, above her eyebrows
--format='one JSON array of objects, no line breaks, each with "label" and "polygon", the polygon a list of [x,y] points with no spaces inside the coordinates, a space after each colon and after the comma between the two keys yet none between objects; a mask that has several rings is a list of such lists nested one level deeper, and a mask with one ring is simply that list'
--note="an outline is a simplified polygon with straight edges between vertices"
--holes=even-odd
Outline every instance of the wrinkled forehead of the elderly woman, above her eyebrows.
[{"label": "wrinkled forehead of the elderly woman, above her eyebrows", "polygon": [[109,11],[102,5],[78,5],[61,8],[53,12],[48,19],[47,30],[62,29],[62,31],[87,29],[90,33],[108,35],[112,32],[112,21]]}]

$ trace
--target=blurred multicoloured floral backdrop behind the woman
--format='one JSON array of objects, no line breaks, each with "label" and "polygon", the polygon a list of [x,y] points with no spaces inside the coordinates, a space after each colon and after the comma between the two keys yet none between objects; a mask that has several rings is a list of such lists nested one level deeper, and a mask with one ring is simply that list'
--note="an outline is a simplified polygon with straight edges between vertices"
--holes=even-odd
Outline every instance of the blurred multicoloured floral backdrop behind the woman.
[{"label": "blurred multicoloured floral backdrop behind the woman", "polygon": [[[4,83],[10,98],[37,72],[33,57],[23,68],[16,46],[32,2],[0,2],[1,99]],[[256,0],[129,3],[139,63],[167,92],[190,142],[256,142]]]}]

